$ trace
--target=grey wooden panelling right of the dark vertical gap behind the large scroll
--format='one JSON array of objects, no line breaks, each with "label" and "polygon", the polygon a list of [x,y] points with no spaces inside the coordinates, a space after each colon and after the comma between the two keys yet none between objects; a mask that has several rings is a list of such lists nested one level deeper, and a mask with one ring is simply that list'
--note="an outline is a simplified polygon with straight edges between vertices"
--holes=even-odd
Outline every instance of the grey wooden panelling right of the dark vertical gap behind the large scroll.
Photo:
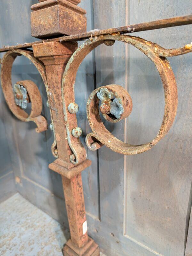
[{"label": "grey wooden panelling right of the dark vertical gap behind the large scroll", "polygon": [[[112,27],[124,21],[134,24],[184,15],[189,10],[191,1],[94,1],[95,28],[104,23]],[[186,26],[134,35],[165,48],[177,48],[191,41],[191,31]],[[192,60],[191,55],[183,57],[170,59],[178,84],[179,107],[164,140],[151,151],[135,156],[99,150],[101,222],[107,224],[103,236],[110,241],[111,254],[185,254],[191,211]],[[97,49],[95,62],[97,86],[123,85],[133,100],[133,111],[125,124],[106,124],[109,130],[130,144],[150,141],[164,111],[163,87],[154,64],[139,50],[122,43]],[[186,251],[186,255],[189,253]]]}]

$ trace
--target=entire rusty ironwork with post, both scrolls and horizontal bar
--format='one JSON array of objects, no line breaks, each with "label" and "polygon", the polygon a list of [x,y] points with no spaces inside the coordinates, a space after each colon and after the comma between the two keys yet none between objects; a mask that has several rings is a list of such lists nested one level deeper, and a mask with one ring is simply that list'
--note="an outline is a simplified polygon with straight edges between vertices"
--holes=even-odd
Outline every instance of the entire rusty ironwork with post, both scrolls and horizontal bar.
[{"label": "entire rusty ironwork with post, both scrolls and horizontal bar", "polygon": [[[12,113],[22,121],[34,121],[37,125],[36,131],[42,132],[47,129],[47,122],[41,116],[42,99],[36,84],[28,80],[19,81],[15,92],[11,84],[12,64],[17,56],[27,57],[39,71],[46,87],[47,107],[50,108],[51,113],[51,127],[54,134],[52,153],[57,158],[49,168],[62,176],[71,234],[71,239],[66,243],[63,253],[64,256],[99,256],[99,246],[87,233],[81,172],[91,165],[91,161],[86,159],[86,150],[79,139],[82,130],[78,127],[76,119],[79,108],[75,103],[74,84],[78,67],[85,56],[97,46],[105,44],[110,47],[116,40],[133,45],[154,62],[164,87],[165,109],[159,132],[149,143],[129,145],[118,140],[105,128],[100,118],[101,112],[107,121],[116,123],[131,114],[132,99],[123,87],[116,84],[101,86],[90,94],[87,101],[87,118],[92,128],[92,133],[86,136],[89,149],[97,150],[105,145],[120,154],[143,153],[166,135],[176,115],[177,86],[172,68],[165,57],[191,52],[192,43],[179,49],[164,49],[150,41],[122,34],[192,24],[192,15],[75,35],[86,31],[84,16],[86,12],[77,6],[80,2],[80,0],[39,0],[38,4],[31,7],[33,36],[38,38],[55,37],[59,34],[68,36],[0,49],[0,52],[8,51],[3,59],[0,59],[1,82],[5,100]],[[58,13],[59,16],[56,15]],[[52,19],[48,19],[48,14]],[[59,28],[59,31],[56,28]],[[84,39],[89,40],[77,48],[77,43],[74,41]],[[23,50],[31,47],[33,51]],[[23,109],[29,101],[32,105],[30,115]]]}]

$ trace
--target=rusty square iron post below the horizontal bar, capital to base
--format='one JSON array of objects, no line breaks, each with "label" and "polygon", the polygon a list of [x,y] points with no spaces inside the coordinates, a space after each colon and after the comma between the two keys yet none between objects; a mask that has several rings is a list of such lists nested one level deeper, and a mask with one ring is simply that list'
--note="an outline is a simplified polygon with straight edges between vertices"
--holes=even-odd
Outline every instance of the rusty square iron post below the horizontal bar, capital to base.
[{"label": "rusty square iron post below the horizontal bar, capital to base", "polygon": [[[91,164],[90,160],[84,160],[78,165],[74,165],[70,156],[73,152],[68,144],[66,131],[66,120],[63,110],[63,100],[61,87],[62,77],[69,58],[77,48],[77,43],[47,42],[33,45],[34,56],[45,65],[48,101],[52,115],[52,126],[55,135],[55,146],[52,148],[53,154],[56,152],[56,159],[49,165],[50,169],[58,172],[62,176],[63,190],[65,195],[66,208],[71,239],[64,247],[64,255],[82,255],[82,250],[86,247],[84,255],[99,255],[98,245],[88,237],[87,221],[84,205],[83,185],[81,171]],[[73,92],[70,92],[72,97]],[[75,113],[72,113],[75,115]],[[72,132],[72,131],[71,131]],[[74,254],[74,252],[76,254]],[[94,254],[90,254],[90,252]]]}]

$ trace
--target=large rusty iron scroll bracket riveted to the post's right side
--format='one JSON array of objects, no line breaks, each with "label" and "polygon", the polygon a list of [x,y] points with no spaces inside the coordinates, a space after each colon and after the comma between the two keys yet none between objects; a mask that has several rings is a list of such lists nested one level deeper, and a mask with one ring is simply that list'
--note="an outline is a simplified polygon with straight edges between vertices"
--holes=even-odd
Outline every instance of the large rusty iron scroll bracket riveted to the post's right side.
[{"label": "large rusty iron scroll bracket riveted to the post's right side", "polygon": [[[164,117],[163,117],[162,125],[156,137],[152,141],[143,145],[130,145],[114,137],[105,128],[102,120],[100,119],[100,113],[99,113],[100,96],[98,97],[98,93],[100,92],[101,88],[106,88],[110,92],[112,91],[111,86],[113,86],[113,93],[115,94],[117,93],[118,88],[120,88],[121,86],[107,85],[104,87],[97,88],[89,96],[89,99],[87,102],[87,118],[88,118],[90,127],[92,129],[92,133],[87,135],[86,144],[88,148],[91,150],[97,150],[101,146],[105,145],[111,150],[120,154],[126,154],[126,155],[140,154],[151,149],[166,135],[166,133],[171,128],[174,118],[176,116],[177,104],[178,104],[177,85],[175,82],[174,74],[172,72],[172,68],[169,65],[169,62],[165,58],[165,56],[177,56],[177,55],[185,54],[192,51],[192,47],[191,49],[186,49],[185,47],[183,47],[180,49],[168,50],[160,47],[155,43],[149,42],[147,40],[144,40],[138,37],[128,36],[128,35],[119,35],[118,33],[116,35],[100,35],[100,36],[93,37],[90,40],[86,41],[84,44],[82,44],[70,58],[63,76],[63,86],[62,86],[63,95],[65,93],[65,88],[68,88],[67,86],[71,87],[71,90],[74,90],[74,84],[76,80],[76,73],[77,73],[78,67],[80,66],[83,59],[87,56],[87,54],[103,43],[105,43],[108,46],[113,45],[113,43],[108,44],[108,42],[114,42],[114,40],[122,41],[122,42],[133,45],[154,62],[164,87],[165,108],[164,108]],[[124,92],[124,95],[125,95],[125,92]],[[118,104],[122,104],[121,101],[119,101],[118,97],[115,96],[114,98],[117,98],[114,104],[116,104],[117,106]],[[114,104],[111,105],[113,101],[114,99],[110,99],[110,102],[108,102],[107,104],[105,104],[104,100],[101,101],[101,103],[104,105],[100,107],[100,111],[103,114],[104,118],[112,122],[117,122],[119,120],[126,118],[128,115],[124,115],[123,114],[124,111],[122,112],[120,110],[119,110],[120,112],[117,113],[117,116],[116,116],[117,118],[114,118],[114,116],[111,115],[112,111],[108,105],[110,106],[114,105]],[[132,103],[131,97],[129,98],[129,102]],[[70,113],[68,113],[67,111],[67,106],[69,102],[64,101],[63,103],[64,103],[63,104],[64,113],[66,115],[65,118],[66,118],[66,121],[68,121],[70,119],[69,117]],[[123,107],[122,109],[124,110],[124,104],[122,104],[122,107]],[[129,114],[130,113],[131,113],[131,110],[129,111]],[[73,129],[73,127],[75,127],[73,123],[68,124],[68,143],[74,153],[73,155],[75,156],[76,159],[78,159],[78,163],[80,163],[85,160],[86,152],[82,144],[80,143],[79,139],[72,137],[71,130]],[[78,140],[78,143],[76,140]]]}]

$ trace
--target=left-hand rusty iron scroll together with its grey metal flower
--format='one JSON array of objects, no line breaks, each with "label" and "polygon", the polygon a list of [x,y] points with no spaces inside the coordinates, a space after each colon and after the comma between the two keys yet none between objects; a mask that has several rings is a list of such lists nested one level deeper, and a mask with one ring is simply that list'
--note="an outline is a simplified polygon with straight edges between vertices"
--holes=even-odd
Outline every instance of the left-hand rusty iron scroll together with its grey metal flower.
[{"label": "left-hand rusty iron scroll together with its grey metal flower", "polygon": [[[4,93],[5,100],[12,111],[12,113],[21,121],[36,123],[36,132],[40,133],[46,131],[48,128],[46,119],[41,116],[42,112],[42,98],[38,87],[30,80],[19,81],[12,87],[12,65],[17,56],[27,57],[39,71],[48,93],[47,79],[45,75],[44,66],[33,56],[30,50],[14,49],[5,53],[1,59],[1,85]],[[23,99],[25,98],[25,99]],[[27,102],[31,102],[31,113],[24,110]],[[56,140],[52,144],[52,154],[55,154]]]}]

